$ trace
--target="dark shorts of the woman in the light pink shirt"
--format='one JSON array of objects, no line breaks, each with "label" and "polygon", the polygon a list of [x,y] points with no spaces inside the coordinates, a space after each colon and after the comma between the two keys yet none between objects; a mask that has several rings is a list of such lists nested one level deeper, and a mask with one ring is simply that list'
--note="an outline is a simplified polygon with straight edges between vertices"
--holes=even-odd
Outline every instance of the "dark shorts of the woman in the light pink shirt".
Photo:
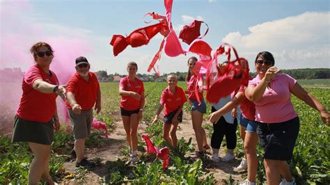
[{"label": "dark shorts of the woman in the light pink shirt", "polygon": [[299,118],[271,124],[258,122],[257,134],[265,159],[288,161],[299,134]]}]

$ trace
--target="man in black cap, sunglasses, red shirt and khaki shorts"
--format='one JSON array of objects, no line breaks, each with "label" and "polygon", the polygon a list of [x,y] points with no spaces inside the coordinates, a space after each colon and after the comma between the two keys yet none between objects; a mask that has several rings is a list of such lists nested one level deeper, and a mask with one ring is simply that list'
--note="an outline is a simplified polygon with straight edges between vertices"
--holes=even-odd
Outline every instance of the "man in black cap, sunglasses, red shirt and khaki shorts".
[{"label": "man in black cap, sunglasses, red shirt and khaki shorts", "polygon": [[74,149],[72,155],[77,156],[76,166],[91,167],[93,163],[84,157],[85,139],[91,133],[93,122],[93,106],[96,113],[101,111],[100,84],[93,72],[90,72],[87,59],[84,56],[76,58],[77,72],[67,86],[66,106],[73,124]]}]

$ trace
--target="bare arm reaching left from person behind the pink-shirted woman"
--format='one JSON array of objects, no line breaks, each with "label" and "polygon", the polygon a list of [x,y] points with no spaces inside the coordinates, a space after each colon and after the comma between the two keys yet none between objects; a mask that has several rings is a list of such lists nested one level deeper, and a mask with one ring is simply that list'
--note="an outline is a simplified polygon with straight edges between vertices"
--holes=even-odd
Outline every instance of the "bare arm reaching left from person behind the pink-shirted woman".
[{"label": "bare arm reaching left from person behind the pink-shirted woman", "polygon": [[221,115],[228,113],[233,108],[237,107],[237,105],[244,100],[245,96],[244,93],[238,92],[234,99],[230,102],[228,102],[225,106],[220,108],[218,111],[215,111],[214,113],[209,115],[210,122],[218,122],[218,120],[221,118]]}]

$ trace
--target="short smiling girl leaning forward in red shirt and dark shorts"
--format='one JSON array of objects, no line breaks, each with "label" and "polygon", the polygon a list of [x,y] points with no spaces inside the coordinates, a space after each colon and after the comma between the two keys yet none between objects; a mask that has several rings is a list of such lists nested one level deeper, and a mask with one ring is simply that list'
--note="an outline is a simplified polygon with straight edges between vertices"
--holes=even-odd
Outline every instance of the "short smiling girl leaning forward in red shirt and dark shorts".
[{"label": "short smiling girl leaning forward in red shirt and dark shorts", "polygon": [[182,88],[178,87],[178,77],[175,74],[167,76],[167,88],[163,90],[160,97],[159,107],[152,124],[155,124],[159,114],[164,108],[163,138],[173,147],[178,146],[176,129],[179,122],[182,122],[182,108],[187,98]]}]

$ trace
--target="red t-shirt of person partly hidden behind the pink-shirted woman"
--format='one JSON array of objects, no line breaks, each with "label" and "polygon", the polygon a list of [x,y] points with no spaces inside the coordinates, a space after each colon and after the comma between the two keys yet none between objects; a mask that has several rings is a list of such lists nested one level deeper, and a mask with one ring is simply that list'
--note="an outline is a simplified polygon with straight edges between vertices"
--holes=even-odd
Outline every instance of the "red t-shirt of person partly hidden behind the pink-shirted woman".
[{"label": "red t-shirt of person partly hidden behind the pink-shirted woman", "polygon": [[[240,86],[238,92],[242,92],[245,95],[245,88],[245,86]],[[256,105],[253,104],[253,102],[251,102],[249,99],[245,97],[244,100],[239,104],[239,108],[241,109],[244,118],[253,121],[256,120]]]}]

